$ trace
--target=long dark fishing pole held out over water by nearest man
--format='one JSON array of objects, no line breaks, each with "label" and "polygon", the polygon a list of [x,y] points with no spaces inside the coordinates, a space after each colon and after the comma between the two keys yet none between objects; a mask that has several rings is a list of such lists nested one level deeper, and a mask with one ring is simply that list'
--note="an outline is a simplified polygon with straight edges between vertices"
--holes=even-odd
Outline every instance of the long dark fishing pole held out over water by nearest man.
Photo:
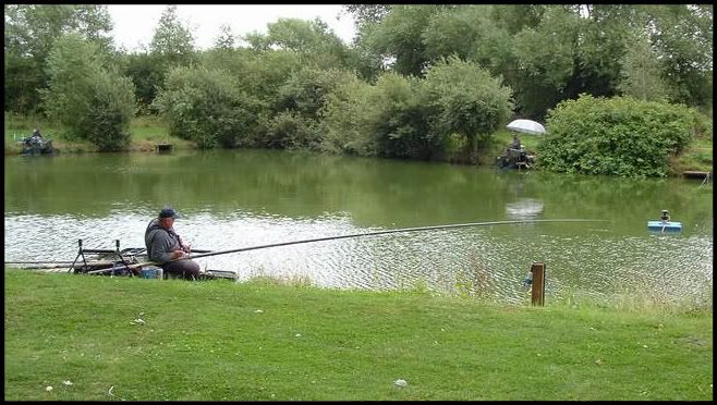
[{"label": "long dark fishing pole held out over water by nearest man", "polygon": [[[514,221],[470,222],[470,223],[457,223],[457,224],[448,224],[448,225],[418,226],[418,228],[401,228],[401,229],[397,229],[397,230],[353,233],[353,234],[350,234],[350,235],[316,237],[316,238],[312,238],[312,240],[280,242],[280,243],[272,243],[272,244],[268,244],[268,245],[240,247],[240,248],[236,248],[236,249],[229,249],[229,250],[216,250],[216,251],[210,251],[210,253],[202,254],[202,255],[191,255],[191,256],[187,256],[187,257],[182,257],[182,258],[170,260],[170,261],[179,261],[179,260],[186,260],[186,259],[198,259],[198,258],[202,258],[202,257],[227,255],[227,254],[232,254],[232,253],[256,250],[256,249],[266,249],[266,248],[269,248],[269,247],[277,247],[277,246],[297,245],[297,244],[302,244],[302,243],[335,241],[335,240],[343,240],[343,238],[349,238],[349,237],[373,236],[373,235],[382,235],[382,234],[399,233],[399,232],[416,232],[416,231],[445,230],[445,229],[454,229],[454,228],[467,228],[467,226],[508,225],[508,224],[536,223],[536,222],[604,222],[604,221],[607,221],[607,220],[599,220],[599,219],[597,219],[597,220],[596,219],[514,220]],[[151,263],[151,262],[149,262],[149,263]],[[139,263],[139,265],[143,265],[143,263]],[[147,263],[144,263],[144,265],[147,265]]]}]

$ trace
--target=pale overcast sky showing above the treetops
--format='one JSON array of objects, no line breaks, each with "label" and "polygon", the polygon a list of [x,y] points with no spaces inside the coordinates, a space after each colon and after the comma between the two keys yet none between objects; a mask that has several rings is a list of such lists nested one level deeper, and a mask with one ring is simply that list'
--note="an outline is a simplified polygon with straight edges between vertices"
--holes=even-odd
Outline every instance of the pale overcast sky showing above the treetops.
[{"label": "pale overcast sky showing above the treetops", "polygon": [[[148,46],[157,23],[167,4],[112,4],[107,5],[114,24],[113,37],[118,47],[138,49]],[[269,5],[190,5],[178,4],[177,15],[182,24],[192,29],[195,46],[207,49],[219,35],[219,26],[228,24],[236,36],[252,32],[266,34],[267,24],[280,17],[321,19],[344,42],[354,36],[353,19],[341,12],[341,4],[269,4]],[[239,38],[238,38],[239,39]]]}]

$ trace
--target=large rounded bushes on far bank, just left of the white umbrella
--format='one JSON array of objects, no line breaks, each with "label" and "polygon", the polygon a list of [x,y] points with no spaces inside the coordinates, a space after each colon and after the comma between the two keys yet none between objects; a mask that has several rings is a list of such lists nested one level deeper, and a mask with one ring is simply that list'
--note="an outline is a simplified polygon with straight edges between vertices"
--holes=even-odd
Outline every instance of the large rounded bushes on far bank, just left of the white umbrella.
[{"label": "large rounded bushes on far bank, just left of the white umbrella", "polygon": [[[452,134],[477,139],[510,114],[510,88],[470,62],[451,58],[426,78],[381,75],[375,86],[344,81],[324,109],[323,149],[391,158],[442,157]],[[474,152],[475,155],[475,152]]]}]

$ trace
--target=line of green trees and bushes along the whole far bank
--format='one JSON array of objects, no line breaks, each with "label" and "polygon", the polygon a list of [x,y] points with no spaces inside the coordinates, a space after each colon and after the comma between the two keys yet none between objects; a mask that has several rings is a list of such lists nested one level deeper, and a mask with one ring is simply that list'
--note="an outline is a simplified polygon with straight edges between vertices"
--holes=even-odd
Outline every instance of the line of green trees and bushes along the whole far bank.
[{"label": "line of green trees and bushes along the whole far bank", "polygon": [[169,5],[133,52],[112,46],[105,5],[4,8],[5,111],[104,150],[127,145],[136,113],[206,148],[475,161],[507,120],[549,125],[581,95],[712,111],[709,4],[347,4],[351,44],[279,19],[222,26],[207,50]]}]

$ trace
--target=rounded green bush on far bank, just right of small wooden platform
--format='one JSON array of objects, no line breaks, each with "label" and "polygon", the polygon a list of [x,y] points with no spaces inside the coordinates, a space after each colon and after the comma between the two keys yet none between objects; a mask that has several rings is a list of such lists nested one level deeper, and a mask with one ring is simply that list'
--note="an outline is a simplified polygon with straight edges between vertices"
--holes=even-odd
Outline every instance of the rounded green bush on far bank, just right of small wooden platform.
[{"label": "rounded green bush on far bank, just right of small wooden platform", "polygon": [[257,123],[256,102],[227,72],[206,68],[170,71],[155,106],[172,135],[200,148],[243,145]]}]

